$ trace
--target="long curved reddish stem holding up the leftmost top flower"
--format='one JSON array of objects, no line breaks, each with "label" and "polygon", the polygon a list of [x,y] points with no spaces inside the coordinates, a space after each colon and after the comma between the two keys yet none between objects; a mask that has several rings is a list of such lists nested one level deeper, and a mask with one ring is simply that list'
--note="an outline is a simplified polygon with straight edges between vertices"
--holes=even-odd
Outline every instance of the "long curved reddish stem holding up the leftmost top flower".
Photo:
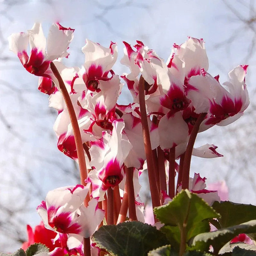
[{"label": "long curved reddish stem holding up the leftmost top flower", "polygon": [[[52,69],[54,76],[57,78],[57,80],[59,82],[60,92],[62,93],[62,96],[65,100],[65,103],[66,103],[66,106],[68,109],[68,114],[70,117],[70,122],[71,122],[71,125],[73,128],[74,137],[75,137],[81,184],[86,185],[84,180],[87,178],[87,168],[86,168],[86,162],[85,162],[85,157],[84,157],[84,148],[83,148],[82,138],[81,138],[81,134],[80,134],[80,129],[79,129],[77,119],[76,119],[76,113],[75,113],[74,107],[72,105],[72,101],[69,97],[67,88],[60,76],[58,69],[56,68],[56,66],[54,65],[53,62],[51,62],[50,65],[51,65],[51,69]],[[84,202],[85,206],[87,206],[88,201],[86,199],[85,199],[85,201],[86,201],[86,202]]]}]

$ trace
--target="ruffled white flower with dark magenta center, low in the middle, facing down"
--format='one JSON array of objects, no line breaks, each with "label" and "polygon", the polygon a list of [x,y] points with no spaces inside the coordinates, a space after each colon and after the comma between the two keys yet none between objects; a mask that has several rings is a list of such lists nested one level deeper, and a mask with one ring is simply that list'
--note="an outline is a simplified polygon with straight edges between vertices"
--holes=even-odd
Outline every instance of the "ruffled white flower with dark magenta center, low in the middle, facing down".
[{"label": "ruffled white flower with dark magenta center, low in the middle, facing down", "polygon": [[132,148],[127,136],[123,133],[124,122],[113,121],[112,132],[103,131],[102,138],[91,142],[90,166],[94,170],[88,174],[92,183],[92,196],[104,200],[109,187],[114,187],[124,178],[124,161]]}]

